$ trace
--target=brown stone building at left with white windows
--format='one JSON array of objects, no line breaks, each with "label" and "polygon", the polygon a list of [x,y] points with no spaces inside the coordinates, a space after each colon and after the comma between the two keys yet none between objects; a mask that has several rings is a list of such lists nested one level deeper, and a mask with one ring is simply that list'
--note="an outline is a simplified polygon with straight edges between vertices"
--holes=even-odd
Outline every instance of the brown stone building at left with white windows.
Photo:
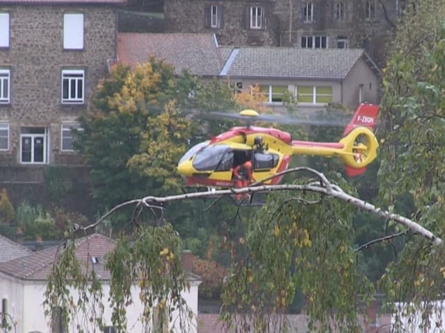
[{"label": "brown stone building at left with white windows", "polygon": [[0,181],[81,165],[71,128],[116,56],[126,0],[0,0]]}]

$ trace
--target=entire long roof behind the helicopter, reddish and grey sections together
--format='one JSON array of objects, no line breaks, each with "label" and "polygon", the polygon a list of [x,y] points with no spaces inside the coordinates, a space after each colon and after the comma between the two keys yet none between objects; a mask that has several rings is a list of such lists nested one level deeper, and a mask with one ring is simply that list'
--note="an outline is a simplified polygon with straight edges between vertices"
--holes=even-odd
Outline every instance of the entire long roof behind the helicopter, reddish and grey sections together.
[{"label": "entire long roof behind the helicopter, reddish and grey sections together", "polygon": [[136,65],[150,55],[197,76],[341,80],[364,60],[380,70],[363,49],[298,49],[280,46],[218,46],[209,33],[119,33],[118,61]]}]

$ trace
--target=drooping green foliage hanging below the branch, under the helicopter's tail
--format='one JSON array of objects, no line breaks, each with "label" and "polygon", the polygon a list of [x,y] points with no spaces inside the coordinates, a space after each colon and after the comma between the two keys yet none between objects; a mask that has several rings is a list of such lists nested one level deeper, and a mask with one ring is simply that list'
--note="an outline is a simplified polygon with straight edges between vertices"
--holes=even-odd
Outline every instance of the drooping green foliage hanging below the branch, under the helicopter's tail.
[{"label": "drooping green foliage hanging below the branch, under the helicopter's tail", "polygon": [[[348,188],[341,179],[339,185]],[[354,211],[329,198],[306,204],[319,199],[312,194],[271,194],[268,205],[252,216],[245,237],[235,239],[248,256],[234,262],[226,279],[225,320],[234,318],[234,310],[252,314],[255,329],[268,332],[268,315],[286,313],[300,289],[318,332],[337,326],[357,330],[357,295],[366,302],[374,289],[355,264]]]}]

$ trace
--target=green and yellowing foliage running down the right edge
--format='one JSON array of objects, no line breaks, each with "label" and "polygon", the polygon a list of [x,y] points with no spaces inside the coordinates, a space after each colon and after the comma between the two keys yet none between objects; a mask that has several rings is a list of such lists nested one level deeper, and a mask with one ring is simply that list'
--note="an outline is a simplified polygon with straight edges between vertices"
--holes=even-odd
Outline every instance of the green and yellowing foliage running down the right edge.
[{"label": "green and yellowing foliage running down the right edge", "polygon": [[[442,239],[444,17],[443,1],[418,1],[398,27],[383,82],[381,113],[385,133],[380,133],[382,162],[378,173],[380,202],[389,210],[411,214],[414,221]],[[404,314],[411,319],[415,314],[422,318],[418,323],[422,330],[435,326],[428,318],[434,311],[432,302],[443,295],[444,267],[443,246],[433,248],[423,239],[407,234],[403,252],[388,266],[381,281],[390,301],[410,302]],[[419,328],[402,327],[401,319],[396,316],[397,330]]]}]

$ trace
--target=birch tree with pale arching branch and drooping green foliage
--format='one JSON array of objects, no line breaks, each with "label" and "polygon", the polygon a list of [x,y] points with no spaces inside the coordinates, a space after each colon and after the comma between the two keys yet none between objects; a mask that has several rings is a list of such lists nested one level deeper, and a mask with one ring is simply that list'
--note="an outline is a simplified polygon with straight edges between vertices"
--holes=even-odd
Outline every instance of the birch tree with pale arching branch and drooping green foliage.
[{"label": "birch tree with pale arching branch and drooping green foliage", "polygon": [[[425,17],[429,17],[428,22]],[[414,316],[417,310],[421,311],[422,329],[435,326],[436,323],[429,321],[429,315],[435,311],[432,302],[442,298],[445,278],[442,241],[445,230],[443,17],[445,5],[442,2],[424,0],[418,3],[415,11],[403,17],[385,69],[377,202],[387,209],[357,198],[350,182],[335,169],[318,173],[300,168],[290,184],[254,185],[247,189],[180,196],[140,196],[108,214],[136,205],[136,214],[128,217],[136,225],[135,218],[140,216],[143,207],[163,212],[168,203],[177,200],[216,194],[227,196],[234,191],[270,190],[267,205],[248,219],[238,219],[236,228],[227,234],[230,267],[223,289],[221,314],[228,324],[234,323],[241,329],[250,326],[259,332],[270,331],[270,321],[286,311],[299,288],[305,298],[305,312],[311,327],[318,332],[332,332],[335,328],[345,332],[359,331],[357,302],[369,302],[377,289],[385,292],[391,304],[397,301],[408,305],[400,308],[402,315]],[[280,191],[275,193],[277,190]],[[397,214],[412,209],[407,203],[414,205],[414,214]],[[373,221],[375,224],[395,223],[394,233],[384,234],[366,244],[355,244],[353,221],[357,207],[380,217]],[[155,221],[147,234],[163,234],[156,241],[150,239],[150,246],[154,247],[154,250],[150,247],[153,260],[170,255],[170,251],[176,257],[179,246],[171,246],[179,244],[175,241],[174,228],[168,224],[159,225],[163,221],[159,216],[163,214],[153,216]],[[79,230],[88,232],[103,219],[79,227]],[[378,284],[373,284],[357,266],[357,253],[401,235],[406,239],[405,247],[388,264],[385,273],[375,277]],[[128,241],[124,237],[122,244],[127,244],[128,249],[137,238],[131,233]],[[163,250],[164,242],[170,244],[168,251]],[[111,265],[144,262],[146,257],[142,251],[125,250],[125,246],[123,249],[124,252],[118,251],[123,253],[121,257],[111,258]],[[149,269],[161,268],[156,263],[150,265]],[[115,272],[122,275],[127,271],[131,270],[119,266]],[[152,284],[165,287],[175,285],[175,280],[183,281],[179,271],[175,272],[165,280],[147,278],[143,287],[149,290]],[[128,284],[130,278],[135,275],[118,282]],[[63,276],[58,282],[67,283]],[[48,295],[54,296],[49,297],[49,305],[64,297],[57,289],[50,290]],[[118,299],[122,299],[121,296]],[[116,321],[119,327],[124,327],[123,318],[117,317]],[[275,323],[279,330],[285,330],[285,322]],[[398,332],[405,330],[402,316],[396,316],[394,328]]]}]

